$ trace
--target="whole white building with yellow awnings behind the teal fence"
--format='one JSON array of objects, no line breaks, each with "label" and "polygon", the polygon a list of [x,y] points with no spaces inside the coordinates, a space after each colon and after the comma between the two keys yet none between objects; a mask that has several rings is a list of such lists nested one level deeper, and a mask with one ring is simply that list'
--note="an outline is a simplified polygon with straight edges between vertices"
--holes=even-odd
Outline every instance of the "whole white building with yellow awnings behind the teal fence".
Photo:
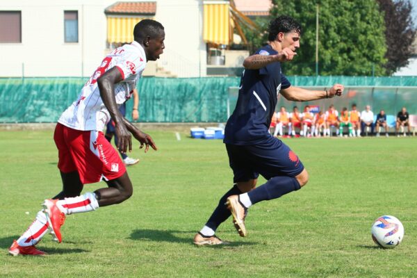
[{"label": "whole white building with yellow awnings behind the teal fence", "polygon": [[[156,63],[149,63],[146,75],[230,74],[227,69],[241,67],[249,54],[229,47],[241,40],[234,35],[239,33],[238,19],[245,22],[245,14],[251,15],[250,9],[265,15],[265,7],[262,12],[259,5],[248,6],[249,2],[253,3],[1,0],[0,77],[90,76],[108,51],[133,40],[133,26],[144,18],[161,22],[166,34],[165,53]],[[270,5],[270,0],[259,2]],[[249,10],[243,8],[243,13],[239,13],[235,3],[236,7]]]}]

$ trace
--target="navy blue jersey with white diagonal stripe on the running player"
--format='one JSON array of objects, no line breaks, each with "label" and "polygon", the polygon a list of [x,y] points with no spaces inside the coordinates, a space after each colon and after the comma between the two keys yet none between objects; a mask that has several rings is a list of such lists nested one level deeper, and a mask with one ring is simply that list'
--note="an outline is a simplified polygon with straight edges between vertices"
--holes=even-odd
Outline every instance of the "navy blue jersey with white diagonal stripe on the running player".
[{"label": "navy blue jersey with white diagonal stripe on the running player", "polygon": [[[255,54],[275,55],[268,44]],[[268,132],[277,105],[279,90],[290,87],[279,62],[259,70],[244,70],[240,79],[238,102],[224,129],[224,142],[231,145],[255,145],[270,138]]]}]

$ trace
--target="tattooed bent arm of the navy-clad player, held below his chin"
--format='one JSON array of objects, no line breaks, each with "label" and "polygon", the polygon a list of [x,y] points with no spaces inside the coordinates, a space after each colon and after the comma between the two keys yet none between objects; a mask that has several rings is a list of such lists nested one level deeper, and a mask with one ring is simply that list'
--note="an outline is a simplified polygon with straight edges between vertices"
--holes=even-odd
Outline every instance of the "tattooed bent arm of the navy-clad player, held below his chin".
[{"label": "tattooed bent arm of the navy-clad player, held below his chin", "polygon": [[295,55],[297,55],[297,53],[288,47],[282,49],[282,51],[276,55],[265,56],[261,54],[255,54],[245,58],[243,61],[243,67],[248,70],[259,70],[262,67],[269,65],[270,63],[287,62],[289,60],[293,60]]}]

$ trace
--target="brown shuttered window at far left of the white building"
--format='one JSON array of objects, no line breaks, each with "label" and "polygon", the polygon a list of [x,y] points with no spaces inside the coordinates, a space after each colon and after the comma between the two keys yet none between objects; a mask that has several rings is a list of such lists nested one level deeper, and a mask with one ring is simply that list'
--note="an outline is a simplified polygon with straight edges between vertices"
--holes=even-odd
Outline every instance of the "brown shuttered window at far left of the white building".
[{"label": "brown shuttered window at far left of the white building", "polygon": [[22,12],[0,11],[0,43],[22,42]]}]

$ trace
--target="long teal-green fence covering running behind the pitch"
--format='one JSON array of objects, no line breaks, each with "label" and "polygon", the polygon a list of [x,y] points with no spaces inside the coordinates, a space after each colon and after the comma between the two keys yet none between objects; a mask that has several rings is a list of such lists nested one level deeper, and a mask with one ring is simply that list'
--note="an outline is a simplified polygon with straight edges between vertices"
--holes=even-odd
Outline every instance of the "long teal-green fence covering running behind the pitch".
[{"label": "long teal-green fence covering running behind the pitch", "polygon": [[[347,90],[341,98],[304,103],[320,105],[322,109],[332,103],[340,109],[355,102],[359,110],[370,104],[374,113],[385,109],[387,114],[395,115],[406,106],[409,113],[417,114],[415,77],[289,76],[288,79],[293,85],[316,90],[334,83],[344,84]],[[0,79],[0,122],[56,122],[87,80],[86,77]],[[236,90],[230,88],[236,88],[239,82],[239,77],[142,78],[138,83],[139,122],[225,122],[228,102],[229,111],[233,111],[236,103],[229,101],[230,92]],[[278,106],[289,109],[294,104],[279,97]],[[129,120],[132,106],[133,101],[128,101]]]}]

